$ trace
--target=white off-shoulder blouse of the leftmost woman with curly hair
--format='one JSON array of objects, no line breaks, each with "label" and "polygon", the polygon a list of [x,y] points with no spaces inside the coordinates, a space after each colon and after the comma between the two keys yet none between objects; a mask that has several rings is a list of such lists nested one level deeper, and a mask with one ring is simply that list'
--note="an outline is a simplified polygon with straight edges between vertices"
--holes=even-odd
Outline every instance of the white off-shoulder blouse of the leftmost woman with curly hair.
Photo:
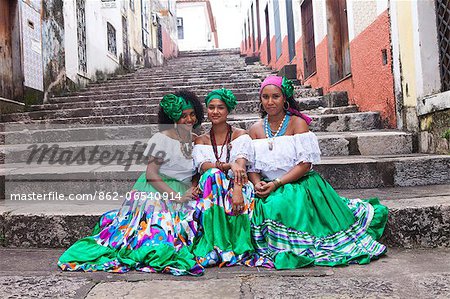
[{"label": "white off-shoulder blouse of the leftmost woman with curly hair", "polygon": [[186,158],[181,152],[180,141],[163,133],[155,133],[148,141],[144,156],[164,157],[159,172],[165,176],[183,182],[189,182],[195,173],[191,158]]}]

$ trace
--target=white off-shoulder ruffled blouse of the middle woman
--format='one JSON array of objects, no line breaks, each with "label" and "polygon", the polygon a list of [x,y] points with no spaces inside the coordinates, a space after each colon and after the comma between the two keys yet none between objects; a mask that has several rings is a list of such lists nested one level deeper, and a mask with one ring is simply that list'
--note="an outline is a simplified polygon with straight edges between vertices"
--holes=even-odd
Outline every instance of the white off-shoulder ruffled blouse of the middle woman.
[{"label": "white off-shoulder ruffled blouse of the middle woman", "polygon": [[[228,149],[226,146],[223,147],[224,153],[222,154],[222,146],[217,146],[217,153],[220,156],[221,162],[226,162]],[[221,155],[222,154],[222,155]],[[192,157],[194,158],[194,166],[201,172],[202,164],[205,162],[216,162],[216,157],[214,156],[214,151],[212,145],[207,144],[196,144],[194,145],[194,150],[192,152]],[[249,135],[244,134],[238,138],[231,141],[231,152],[230,152],[230,163],[235,162],[237,159],[245,159],[251,161],[253,159],[253,146],[252,139]]]}]

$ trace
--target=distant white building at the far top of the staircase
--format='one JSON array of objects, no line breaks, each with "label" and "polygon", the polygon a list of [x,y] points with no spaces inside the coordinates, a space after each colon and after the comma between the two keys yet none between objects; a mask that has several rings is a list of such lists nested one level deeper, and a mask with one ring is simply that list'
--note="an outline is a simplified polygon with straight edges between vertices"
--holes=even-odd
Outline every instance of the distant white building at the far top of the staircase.
[{"label": "distant white building at the far top of the staircase", "polygon": [[178,40],[178,48],[181,51],[214,48],[214,36],[204,2],[177,3],[177,17],[183,18],[184,39]]}]

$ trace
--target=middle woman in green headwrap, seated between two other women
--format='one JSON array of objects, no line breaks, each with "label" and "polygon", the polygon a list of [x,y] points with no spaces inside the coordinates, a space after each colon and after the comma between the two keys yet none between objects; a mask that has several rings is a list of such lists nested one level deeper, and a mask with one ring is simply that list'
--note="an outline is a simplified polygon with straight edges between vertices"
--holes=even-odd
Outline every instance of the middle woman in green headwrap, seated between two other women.
[{"label": "middle woman in green headwrap, seated between two other women", "polygon": [[253,149],[246,131],[227,123],[228,114],[237,104],[230,90],[210,92],[205,104],[212,126],[195,139],[193,151],[201,177],[196,209],[199,229],[192,252],[202,266],[232,266],[253,253],[253,185],[246,170]]}]

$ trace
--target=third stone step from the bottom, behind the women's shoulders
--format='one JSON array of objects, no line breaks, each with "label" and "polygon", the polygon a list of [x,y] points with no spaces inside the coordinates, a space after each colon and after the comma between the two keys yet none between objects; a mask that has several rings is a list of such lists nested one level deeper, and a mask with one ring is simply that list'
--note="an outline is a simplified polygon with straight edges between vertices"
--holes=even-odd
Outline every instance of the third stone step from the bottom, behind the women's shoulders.
[{"label": "third stone step from the bottom, behind the women's shoulders", "polygon": [[[81,150],[90,152],[94,148],[99,151],[115,151],[129,152],[133,147],[136,151],[142,153],[145,144],[152,136],[155,130],[134,131],[130,135],[130,130],[123,130],[115,134],[101,134],[95,132],[93,134],[75,135],[72,140],[67,134],[59,136],[60,139],[47,139],[45,142],[26,143],[23,138],[16,137],[22,143],[13,143],[9,140],[9,144],[0,145],[0,161],[3,163],[25,162],[31,157],[32,149],[38,148],[44,150],[57,146],[56,152],[62,154],[63,151],[69,150],[74,155]],[[105,131],[106,132],[106,131]],[[46,132],[50,133],[50,132]],[[66,133],[66,132],[65,132]],[[50,134],[51,135],[51,134]],[[341,132],[341,133],[324,133],[318,132],[319,146],[322,156],[348,156],[348,155],[383,155],[383,154],[410,154],[413,151],[412,134],[402,131],[361,131],[361,132]],[[84,139],[83,139],[84,137]],[[102,138],[103,137],[103,138]],[[48,161],[54,151],[43,155],[43,159]],[[36,161],[43,151],[39,150],[34,156]],[[56,156],[58,156],[58,154]]]}]

